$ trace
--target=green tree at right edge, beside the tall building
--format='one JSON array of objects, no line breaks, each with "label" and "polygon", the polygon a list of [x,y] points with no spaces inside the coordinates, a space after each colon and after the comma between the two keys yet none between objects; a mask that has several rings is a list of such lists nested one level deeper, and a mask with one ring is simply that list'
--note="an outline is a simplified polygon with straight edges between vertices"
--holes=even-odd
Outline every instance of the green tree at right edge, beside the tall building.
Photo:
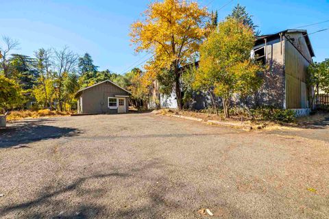
[{"label": "green tree at right edge, beside the tall building", "polygon": [[315,92],[319,96],[319,90],[329,93],[329,59],[324,62],[315,62],[308,66],[308,77],[306,83],[308,87],[314,86],[314,93],[310,105],[313,105]]}]

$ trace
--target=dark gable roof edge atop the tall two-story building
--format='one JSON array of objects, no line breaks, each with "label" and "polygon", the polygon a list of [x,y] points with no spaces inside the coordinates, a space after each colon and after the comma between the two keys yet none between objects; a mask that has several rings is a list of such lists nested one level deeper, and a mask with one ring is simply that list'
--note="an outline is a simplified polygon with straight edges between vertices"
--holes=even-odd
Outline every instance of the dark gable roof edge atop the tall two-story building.
[{"label": "dark gable roof edge atop the tall two-story building", "polygon": [[306,44],[307,44],[308,50],[310,51],[310,55],[312,57],[315,56],[315,53],[313,51],[312,44],[310,44],[310,38],[308,37],[306,29],[286,29],[284,31],[277,32],[275,34],[267,34],[267,35],[263,35],[263,36],[257,36],[256,37],[256,45],[264,43],[265,38],[268,41],[269,40],[276,40],[276,39],[280,38],[280,34],[285,35],[285,34],[289,34],[289,33],[301,33],[302,36],[304,36],[304,38],[306,40]]}]

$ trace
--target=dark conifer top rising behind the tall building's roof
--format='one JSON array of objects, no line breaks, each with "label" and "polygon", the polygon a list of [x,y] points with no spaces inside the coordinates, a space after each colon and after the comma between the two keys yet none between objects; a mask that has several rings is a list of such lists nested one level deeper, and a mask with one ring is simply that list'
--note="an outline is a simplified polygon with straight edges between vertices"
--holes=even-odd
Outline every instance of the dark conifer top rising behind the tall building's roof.
[{"label": "dark conifer top rising behind the tall building's roof", "polygon": [[227,18],[234,18],[236,21],[242,22],[243,25],[247,25],[254,31],[255,36],[260,35],[260,31],[256,30],[258,26],[254,24],[254,21],[252,21],[252,15],[249,15],[247,10],[245,10],[245,6],[242,6],[238,3],[233,8],[232,13],[227,16]]}]

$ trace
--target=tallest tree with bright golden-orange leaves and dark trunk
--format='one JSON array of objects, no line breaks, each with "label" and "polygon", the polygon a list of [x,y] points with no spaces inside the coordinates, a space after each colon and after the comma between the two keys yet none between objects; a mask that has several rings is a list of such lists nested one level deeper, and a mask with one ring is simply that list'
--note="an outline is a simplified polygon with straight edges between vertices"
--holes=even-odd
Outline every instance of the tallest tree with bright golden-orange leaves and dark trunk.
[{"label": "tallest tree with bright golden-orange leaves and dark trunk", "polygon": [[143,17],[143,21],[132,24],[130,36],[135,51],[154,54],[151,65],[157,74],[169,70],[178,107],[182,109],[180,67],[193,60],[210,29],[210,15],[194,1],[164,0],[149,4]]}]

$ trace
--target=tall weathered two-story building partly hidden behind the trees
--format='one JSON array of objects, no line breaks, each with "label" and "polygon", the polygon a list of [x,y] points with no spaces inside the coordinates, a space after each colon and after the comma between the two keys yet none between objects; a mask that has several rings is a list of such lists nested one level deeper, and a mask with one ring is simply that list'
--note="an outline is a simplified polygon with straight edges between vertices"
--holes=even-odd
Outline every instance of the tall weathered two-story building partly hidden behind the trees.
[{"label": "tall weathered two-story building partly hidden behind the trees", "polygon": [[[264,79],[263,86],[250,96],[249,105],[294,109],[299,115],[308,114],[312,107],[310,98],[313,88],[306,86],[307,68],[315,54],[307,31],[287,29],[258,36],[251,55],[269,68],[260,74]],[[208,94],[198,92],[193,97],[192,108],[201,110],[210,106]],[[151,107],[156,103],[154,99],[160,99],[161,107],[177,107],[175,92],[169,96],[159,94],[157,81],[154,81]]]}]

